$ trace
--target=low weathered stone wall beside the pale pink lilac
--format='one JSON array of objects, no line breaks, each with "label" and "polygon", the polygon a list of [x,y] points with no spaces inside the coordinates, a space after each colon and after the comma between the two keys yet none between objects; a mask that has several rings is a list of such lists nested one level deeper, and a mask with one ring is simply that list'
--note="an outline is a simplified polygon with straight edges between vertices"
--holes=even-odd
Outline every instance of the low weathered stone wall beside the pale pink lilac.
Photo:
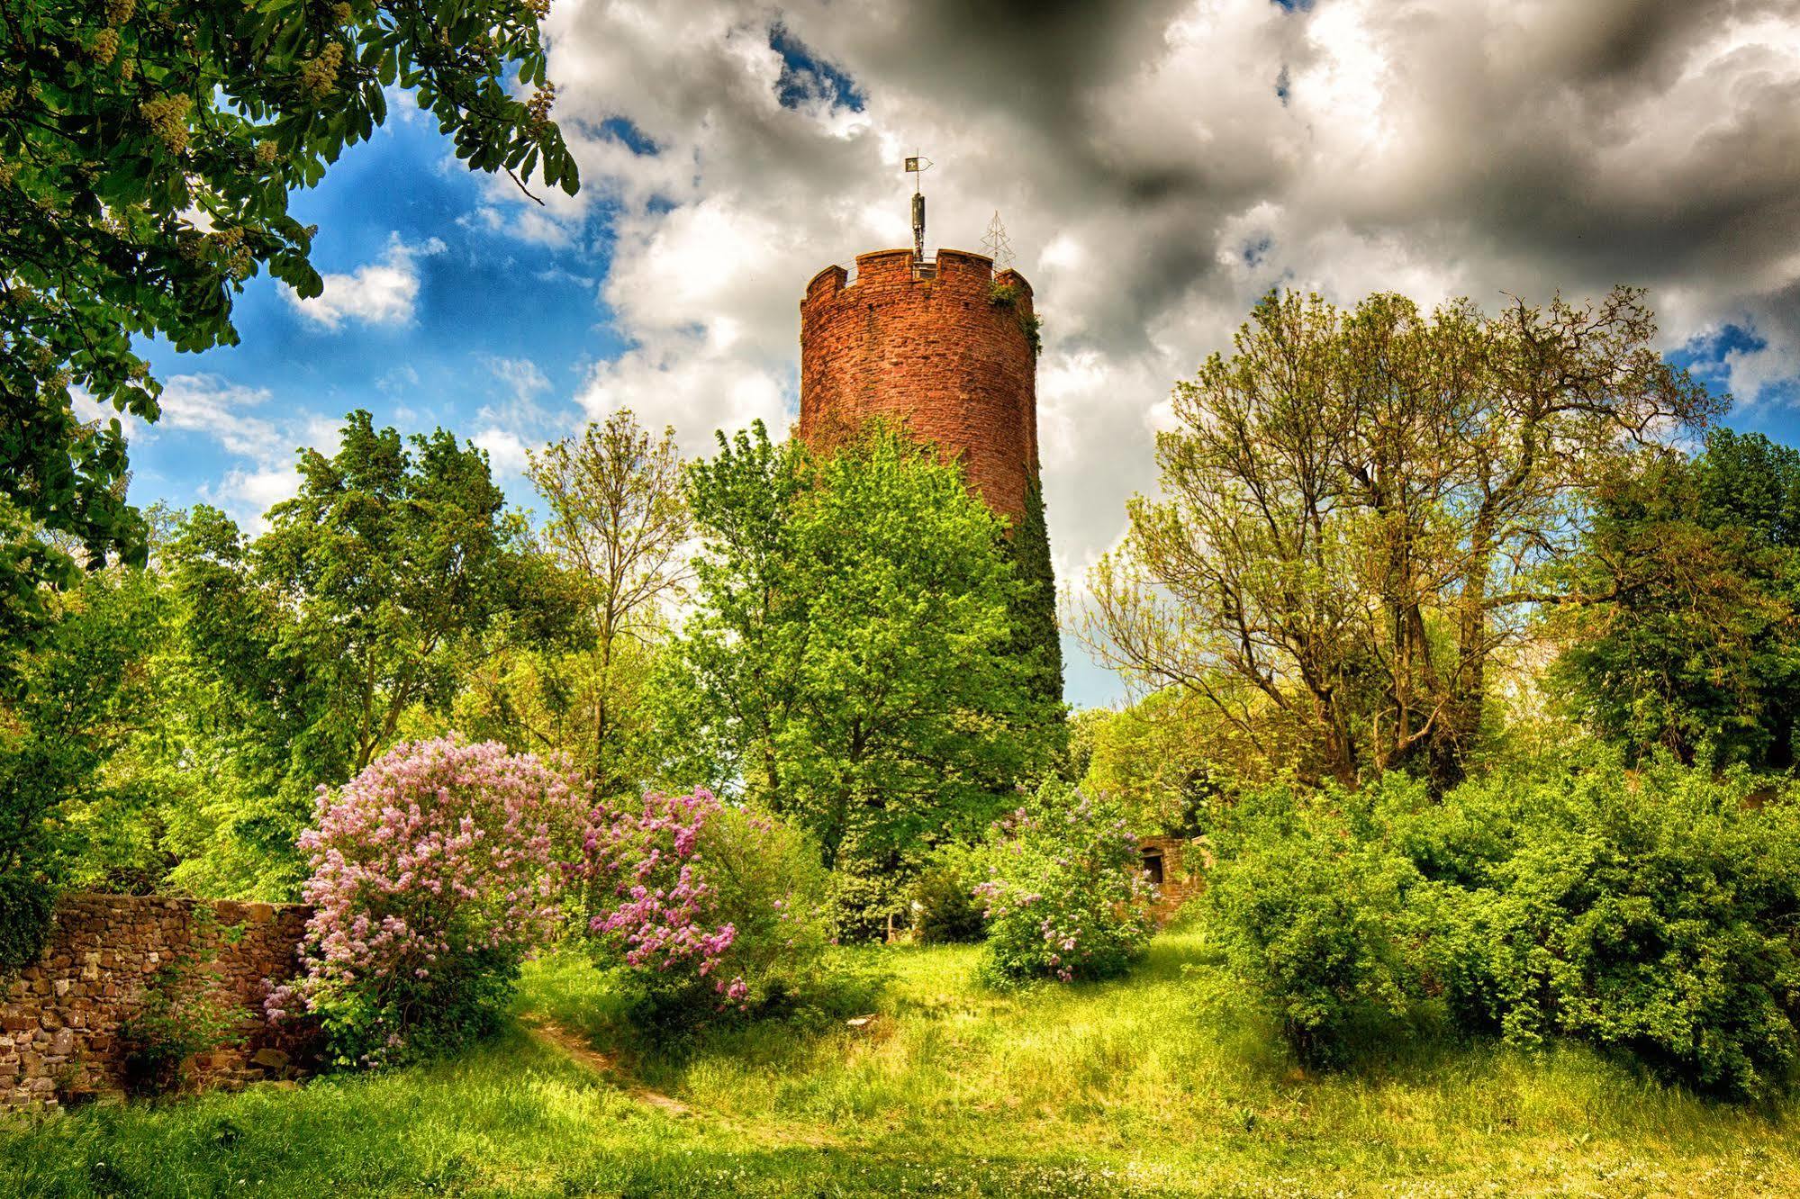
[{"label": "low weathered stone wall beside the pale pink lilac", "polygon": [[[196,920],[211,907],[216,920]],[[238,1012],[243,1042],[202,1053],[196,1086],[288,1078],[308,1060],[310,1030],[272,1030],[261,1017],[266,979],[297,972],[310,907],[157,895],[63,895],[36,965],[0,978],[0,1111],[45,1109],[124,1087],[119,1024],[140,1006],[157,970],[196,947],[196,974]]]}]

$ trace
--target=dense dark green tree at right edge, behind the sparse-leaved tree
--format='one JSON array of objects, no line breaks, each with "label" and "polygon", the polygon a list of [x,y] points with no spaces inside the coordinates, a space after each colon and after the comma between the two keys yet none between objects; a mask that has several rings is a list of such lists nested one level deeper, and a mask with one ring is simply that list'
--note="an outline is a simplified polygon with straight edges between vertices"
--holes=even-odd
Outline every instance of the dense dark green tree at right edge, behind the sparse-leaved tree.
[{"label": "dense dark green tree at right edge, behind the sparse-leaved tree", "polygon": [[1800,452],[1715,428],[1595,499],[1561,621],[1570,706],[1633,756],[1791,767],[1800,731]]}]

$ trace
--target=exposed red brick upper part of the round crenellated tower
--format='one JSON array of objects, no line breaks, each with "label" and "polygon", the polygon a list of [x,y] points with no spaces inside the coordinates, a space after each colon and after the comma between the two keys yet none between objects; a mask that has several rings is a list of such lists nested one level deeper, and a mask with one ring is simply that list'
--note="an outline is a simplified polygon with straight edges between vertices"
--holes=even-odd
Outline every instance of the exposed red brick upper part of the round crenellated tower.
[{"label": "exposed red brick upper part of the round crenellated tower", "polygon": [[[826,266],[799,306],[799,436],[832,445],[871,418],[904,425],[963,461],[970,491],[1015,526],[1037,479],[1037,356],[1019,315],[1031,284],[981,254],[940,250],[936,279],[911,250]],[[1015,306],[990,302],[994,283]]]}]

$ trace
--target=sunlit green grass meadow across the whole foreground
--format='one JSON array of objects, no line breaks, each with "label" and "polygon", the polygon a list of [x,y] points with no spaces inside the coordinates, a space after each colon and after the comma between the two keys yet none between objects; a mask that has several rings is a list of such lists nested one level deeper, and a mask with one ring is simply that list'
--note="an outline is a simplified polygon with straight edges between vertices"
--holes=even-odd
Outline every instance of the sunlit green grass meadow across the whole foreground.
[{"label": "sunlit green grass meadow across the whole foreground", "polygon": [[1010,994],[972,981],[970,949],[868,952],[893,974],[868,1030],[752,1026],[679,1051],[634,1042],[605,981],[549,958],[522,1012],[630,1077],[515,1032],[454,1064],[16,1129],[0,1192],[1800,1194],[1787,1109],[1699,1100],[1586,1050],[1424,1044],[1301,1075],[1208,985],[1190,934],[1120,983]]}]

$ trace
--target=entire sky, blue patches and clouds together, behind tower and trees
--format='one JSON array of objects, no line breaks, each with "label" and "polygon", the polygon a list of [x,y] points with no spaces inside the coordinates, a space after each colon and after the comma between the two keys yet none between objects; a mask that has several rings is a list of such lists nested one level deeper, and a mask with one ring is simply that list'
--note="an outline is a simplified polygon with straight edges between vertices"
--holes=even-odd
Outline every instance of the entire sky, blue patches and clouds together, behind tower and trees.
[{"label": "entire sky, blue patches and clouds together, behind tower and trees", "polygon": [[[1800,441],[1800,20],[1780,0],[1157,0],[1042,9],[560,0],[583,191],[468,175],[410,104],[293,198],[322,301],[252,281],[241,344],[149,347],[133,499],[245,522],[351,409],[524,450],[626,405],[691,452],[794,410],[805,281],[1003,212],[1046,317],[1044,484],[1078,583],[1154,486],[1174,380],[1274,284],[1354,301],[1651,286],[1739,428]],[[1431,9],[1426,0],[1424,9]],[[1116,681],[1069,646],[1069,699]]]}]

